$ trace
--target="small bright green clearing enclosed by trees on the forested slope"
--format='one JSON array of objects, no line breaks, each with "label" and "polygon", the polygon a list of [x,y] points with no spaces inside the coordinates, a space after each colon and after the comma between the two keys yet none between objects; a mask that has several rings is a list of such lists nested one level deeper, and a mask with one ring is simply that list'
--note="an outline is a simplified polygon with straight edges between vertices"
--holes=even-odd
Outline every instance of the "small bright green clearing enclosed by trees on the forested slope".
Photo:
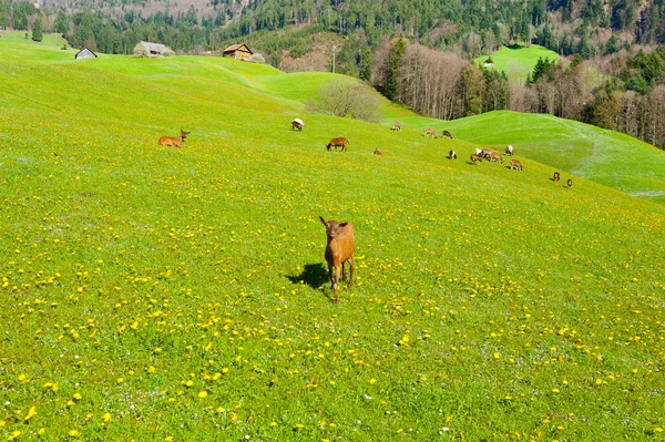
[{"label": "small bright green clearing enclosed by trees on the forested slope", "polygon": [[[473,62],[475,64],[484,63],[488,56],[481,55]],[[532,44],[529,48],[522,44],[501,47],[491,56],[494,62],[491,69],[505,71],[510,81],[519,83],[524,83],[526,75],[533,73],[533,68],[535,68],[539,58],[550,59],[550,61],[559,59],[556,52],[538,44]]]}]

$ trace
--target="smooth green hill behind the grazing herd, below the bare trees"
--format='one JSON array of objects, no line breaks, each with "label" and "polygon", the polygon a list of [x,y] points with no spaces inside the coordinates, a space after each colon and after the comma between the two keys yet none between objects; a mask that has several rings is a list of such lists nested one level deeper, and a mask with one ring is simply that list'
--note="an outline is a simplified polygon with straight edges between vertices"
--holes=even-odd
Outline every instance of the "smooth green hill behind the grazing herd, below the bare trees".
[{"label": "smooth green hill behind the grazing herd, below the bare trees", "polygon": [[[519,155],[630,195],[665,203],[665,152],[640,140],[548,114],[509,111],[441,122],[402,117],[409,127],[447,129],[453,136]],[[386,120],[388,123],[391,120]]]}]

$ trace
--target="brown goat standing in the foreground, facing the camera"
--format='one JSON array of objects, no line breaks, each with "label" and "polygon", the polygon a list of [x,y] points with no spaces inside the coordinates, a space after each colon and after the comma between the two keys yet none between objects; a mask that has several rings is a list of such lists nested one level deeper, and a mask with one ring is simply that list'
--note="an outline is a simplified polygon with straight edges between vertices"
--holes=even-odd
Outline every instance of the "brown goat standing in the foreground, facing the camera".
[{"label": "brown goat standing in the foreground, facing the camera", "polygon": [[[328,263],[328,273],[330,275],[330,285],[335,292],[334,302],[337,302],[337,284],[339,275],[345,278],[344,264],[349,264],[349,287],[354,285],[354,251],[356,250],[356,237],[354,235],[354,225],[349,223],[337,223],[336,220],[325,220],[319,216],[324,226],[326,226],[326,263]],[[335,274],[332,273],[335,268]]]}]

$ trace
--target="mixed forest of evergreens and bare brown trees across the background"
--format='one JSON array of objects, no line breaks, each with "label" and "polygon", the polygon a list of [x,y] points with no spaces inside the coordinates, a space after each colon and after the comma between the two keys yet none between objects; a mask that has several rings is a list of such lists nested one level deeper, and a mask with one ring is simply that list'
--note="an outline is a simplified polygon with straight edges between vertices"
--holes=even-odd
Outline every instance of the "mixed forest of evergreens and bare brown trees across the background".
[{"label": "mixed forest of evergreens and bare brown trees across the background", "polygon": [[[214,0],[206,13],[191,6],[147,14],[137,4],[101,13],[92,6],[40,10],[25,0],[0,0],[0,27],[37,25],[73,48],[119,54],[132,53],[140,41],[201,54],[242,40],[280,69],[321,52],[321,41],[334,42],[337,72],[426,115],[551,113],[665,147],[657,123],[665,107],[662,0]],[[511,44],[540,44],[562,58],[539,61],[524,84],[472,62]],[[319,55],[307,69],[329,65],[329,54]]]}]

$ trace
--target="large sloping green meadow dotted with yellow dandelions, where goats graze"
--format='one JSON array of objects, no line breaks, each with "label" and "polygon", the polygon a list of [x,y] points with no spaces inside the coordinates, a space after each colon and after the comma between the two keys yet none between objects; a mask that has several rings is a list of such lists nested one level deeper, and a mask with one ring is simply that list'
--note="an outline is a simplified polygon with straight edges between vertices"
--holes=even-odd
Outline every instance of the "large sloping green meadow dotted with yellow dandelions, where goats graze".
[{"label": "large sloping green meadow dotted with yellow dandelions, where goats graze", "polygon": [[[665,440],[665,208],[628,195],[662,152],[385,102],[391,132],[308,111],[331,74],[11,35],[2,440]],[[523,172],[468,163],[507,138]],[[337,305],[319,215],[356,230]]]}]

